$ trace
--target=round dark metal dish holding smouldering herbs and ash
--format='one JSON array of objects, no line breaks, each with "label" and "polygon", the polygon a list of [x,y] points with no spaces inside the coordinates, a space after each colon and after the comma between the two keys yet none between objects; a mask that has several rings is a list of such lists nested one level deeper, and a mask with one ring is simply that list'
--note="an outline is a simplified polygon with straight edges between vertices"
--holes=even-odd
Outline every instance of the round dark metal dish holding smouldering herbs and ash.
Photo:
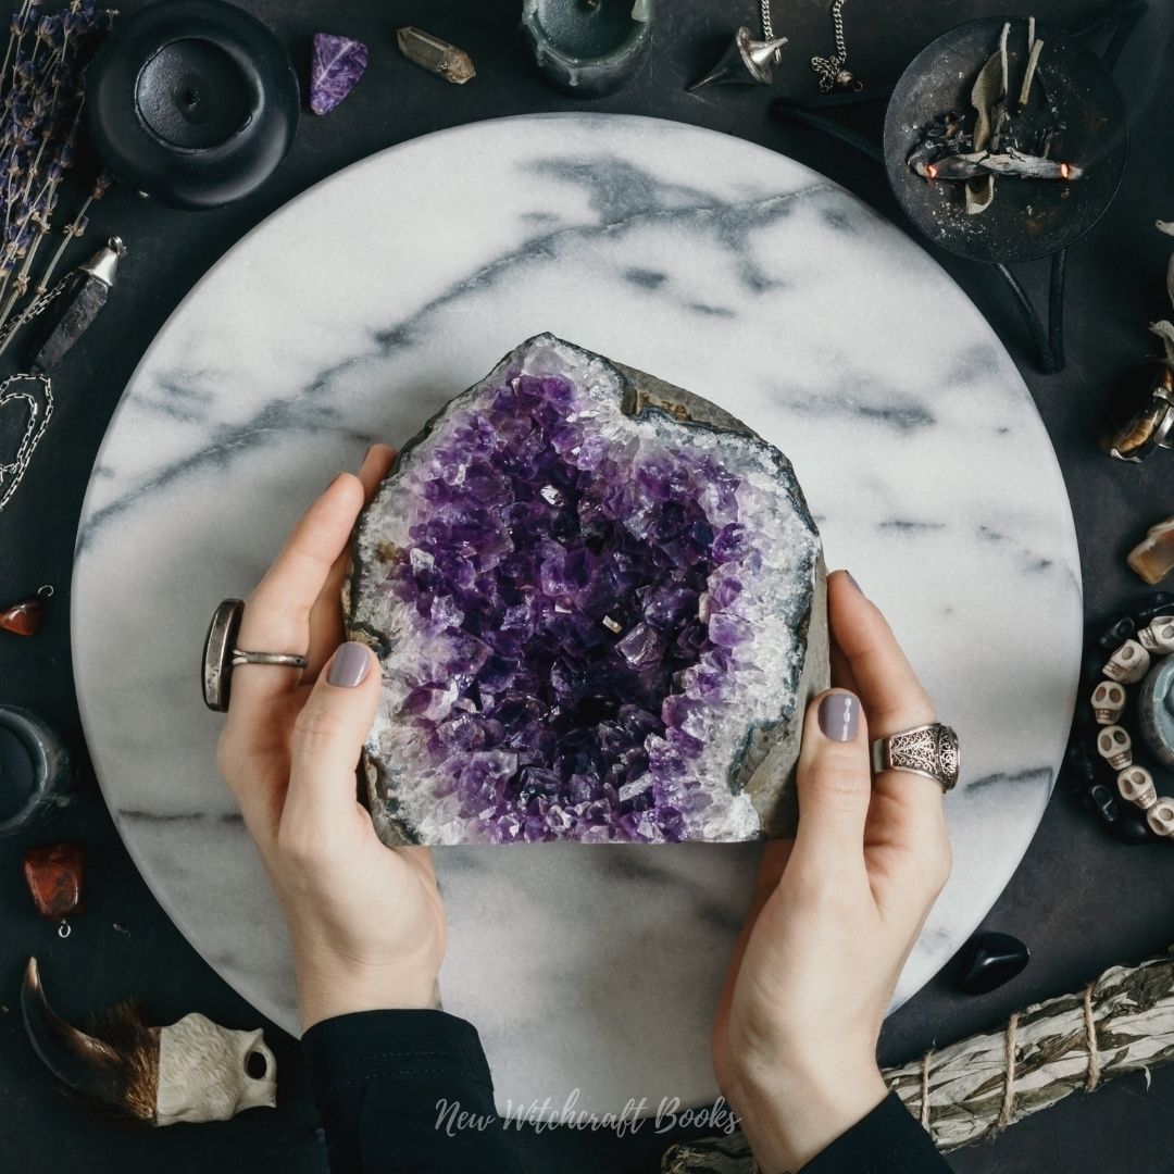
[{"label": "round dark metal dish holding smouldering herbs and ash", "polygon": [[905,215],[935,244],[1003,265],[1080,239],[1112,203],[1128,148],[1106,63],[1024,18],[935,38],[885,113],[885,170]]}]

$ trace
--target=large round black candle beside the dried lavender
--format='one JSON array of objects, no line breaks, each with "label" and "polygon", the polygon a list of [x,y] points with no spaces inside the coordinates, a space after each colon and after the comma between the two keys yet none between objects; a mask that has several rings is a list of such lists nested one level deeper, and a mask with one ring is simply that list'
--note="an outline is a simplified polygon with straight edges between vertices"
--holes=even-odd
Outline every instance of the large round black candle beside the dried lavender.
[{"label": "large round black candle beside the dried lavender", "polygon": [[255,190],[292,144],[299,104],[277,39],[224,0],[157,0],[120,19],[86,99],[110,173],[177,208]]}]

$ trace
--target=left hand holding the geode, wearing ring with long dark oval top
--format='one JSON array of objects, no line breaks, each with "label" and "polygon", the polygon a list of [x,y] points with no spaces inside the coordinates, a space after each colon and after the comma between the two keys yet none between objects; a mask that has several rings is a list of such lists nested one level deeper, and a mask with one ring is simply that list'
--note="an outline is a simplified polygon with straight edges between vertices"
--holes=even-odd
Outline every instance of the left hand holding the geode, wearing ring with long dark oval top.
[{"label": "left hand holding the geode, wearing ring with long dark oval top", "polygon": [[301,650],[305,669],[232,674],[216,762],[289,924],[302,1028],[350,1011],[437,1005],[446,927],[432,853],[386,848],[356,798],[379,662],[344,643],[346,545],[393,450],[339,473],[249,596],[237,643]]}]

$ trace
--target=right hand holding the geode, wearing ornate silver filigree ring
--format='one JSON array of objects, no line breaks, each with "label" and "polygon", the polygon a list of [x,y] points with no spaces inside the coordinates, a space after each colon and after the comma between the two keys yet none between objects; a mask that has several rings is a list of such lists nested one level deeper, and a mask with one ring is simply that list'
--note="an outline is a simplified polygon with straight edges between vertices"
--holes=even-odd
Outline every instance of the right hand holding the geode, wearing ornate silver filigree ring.
[{"label": "right hand holding the geode, wearing ornate silver filigree ring", "polygon": [[950,875],[940,785],[872,780],[869,763],[870,738],[933,707],[846,572],[828,607],[838,688],[808,707],[798,830],[764,845],[714,1023],[717,1082],[762,1174],[797,1170],[885,1098],[880,1024]]}]

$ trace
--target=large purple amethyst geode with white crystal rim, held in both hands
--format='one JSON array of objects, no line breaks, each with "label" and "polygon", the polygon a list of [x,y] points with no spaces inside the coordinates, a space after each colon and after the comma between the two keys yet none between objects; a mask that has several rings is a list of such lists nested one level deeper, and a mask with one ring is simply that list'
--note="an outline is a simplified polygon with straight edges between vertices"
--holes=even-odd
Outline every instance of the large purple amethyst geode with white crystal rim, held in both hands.
[{"label": "large purple amethyst geode with white crystal rim, held in both hands", "polygon": [[405,445],[345,608],[391,844],[787,835],[825,687],[819,538],[708,400],[540,335]]}]

